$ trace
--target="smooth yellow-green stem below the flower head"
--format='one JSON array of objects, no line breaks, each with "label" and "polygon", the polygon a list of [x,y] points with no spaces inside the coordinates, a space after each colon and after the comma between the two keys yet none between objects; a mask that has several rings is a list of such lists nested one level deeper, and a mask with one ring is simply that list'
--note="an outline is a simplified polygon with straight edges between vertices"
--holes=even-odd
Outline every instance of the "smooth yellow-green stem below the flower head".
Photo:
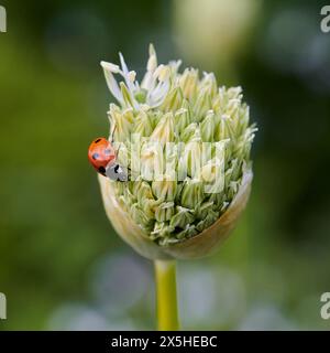
[{"label": "smooth yellow-green stem below the flower head", "polygon": [[178,330],[175,260],[155,260],[155,275],[158,330]]}]

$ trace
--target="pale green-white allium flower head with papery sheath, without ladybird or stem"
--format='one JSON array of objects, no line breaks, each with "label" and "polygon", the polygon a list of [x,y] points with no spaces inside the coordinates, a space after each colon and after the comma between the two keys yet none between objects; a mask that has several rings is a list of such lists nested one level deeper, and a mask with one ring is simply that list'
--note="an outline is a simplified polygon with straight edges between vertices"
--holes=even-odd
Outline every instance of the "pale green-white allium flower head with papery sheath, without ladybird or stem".
[{"label": "pale green-white allium flower head with papery sheath, without ladybird or stem", "polygon": [[[120,54],[102,62],[110,137],[128,181],[100,176],[118,233],[148,258],[208,254],[234,226],[249,197],[256,128],[241,87],[218,87],[212,73],[158,65],[150,46],[141,83]],[[119,76],[119,82],[116,79]]]}]

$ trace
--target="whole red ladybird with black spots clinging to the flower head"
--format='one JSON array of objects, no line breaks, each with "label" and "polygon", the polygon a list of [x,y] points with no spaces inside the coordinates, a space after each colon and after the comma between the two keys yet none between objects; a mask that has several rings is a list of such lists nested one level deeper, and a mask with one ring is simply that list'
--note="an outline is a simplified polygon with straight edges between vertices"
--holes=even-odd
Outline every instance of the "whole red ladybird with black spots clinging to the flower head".
[{"label": "whole red ladybird with black spots clinging to the flower head", "polygon": [[117,161],[118,151],[103,137],[95,139],[88,149],[91,165],[103,176],[114,181],[127,181],[128,174]]}]

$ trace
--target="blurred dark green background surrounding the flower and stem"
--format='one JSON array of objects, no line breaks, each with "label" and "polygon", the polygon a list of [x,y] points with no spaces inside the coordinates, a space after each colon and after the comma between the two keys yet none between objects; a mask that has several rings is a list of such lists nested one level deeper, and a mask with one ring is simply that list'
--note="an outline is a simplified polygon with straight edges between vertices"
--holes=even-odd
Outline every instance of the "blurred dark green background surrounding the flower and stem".
[{"label": "blurred dark green background surrounding the flower and stem", "polygon": [[324,1],[1,1],[0,291],[7,330],[154,329],[152,264],[106,218],[87,147],[107,135],[101,60],[241,85],[260,131],[249,207],[213,257],[179,263],[185,329],[330,329],[330,33]]}]

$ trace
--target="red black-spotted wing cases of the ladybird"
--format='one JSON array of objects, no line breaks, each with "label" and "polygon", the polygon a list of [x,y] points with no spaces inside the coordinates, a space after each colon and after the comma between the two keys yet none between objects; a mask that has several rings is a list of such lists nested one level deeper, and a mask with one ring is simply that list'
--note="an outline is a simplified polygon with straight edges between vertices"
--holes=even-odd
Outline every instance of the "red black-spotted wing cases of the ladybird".
[{"label": "red black-spotted wing cases of the ladybird", "polygon": [[106,138],[100,137],[90,143],[88,159],[100,174],[106,175],[106,168],[116,161],[116,152],[111,143]]}]

